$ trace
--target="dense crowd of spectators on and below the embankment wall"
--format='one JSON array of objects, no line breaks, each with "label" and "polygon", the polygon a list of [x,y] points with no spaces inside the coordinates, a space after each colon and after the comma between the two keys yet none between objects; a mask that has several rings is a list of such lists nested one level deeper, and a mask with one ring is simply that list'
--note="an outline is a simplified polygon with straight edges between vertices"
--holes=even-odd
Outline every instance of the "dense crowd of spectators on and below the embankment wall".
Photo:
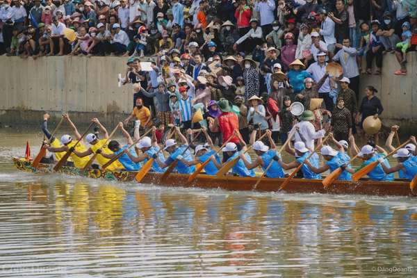
[{"label": "dense crowd of spectators on and below the embankment wall", "polygon": [[[0,0],[0,54],[126,56],[141,124],[205,124],[224,136],[222,113],[245,138],[271,129],[285,140],[291,102],[338,138],[361,115],[382,113],[375,88],[360,103],[361,74],[395,55],[407,74],[417,44],[415,0]],[[145,57],[149,56],[149,57]],[[373,67],[375,60],[375,68]],[[142,62],[152,62],[142,70]],[[343,76],[327,72],[338,62]],[[322,99],[317,105],[311,99]],[[314,103],[313,103],[314,102]],[[141,109],[149,111],[141,111]],[[195,113],[202,120],[193,123]],[[333,115],[332,115],[333,114]],[[250,129],[249,129],[250,126]]]}]

